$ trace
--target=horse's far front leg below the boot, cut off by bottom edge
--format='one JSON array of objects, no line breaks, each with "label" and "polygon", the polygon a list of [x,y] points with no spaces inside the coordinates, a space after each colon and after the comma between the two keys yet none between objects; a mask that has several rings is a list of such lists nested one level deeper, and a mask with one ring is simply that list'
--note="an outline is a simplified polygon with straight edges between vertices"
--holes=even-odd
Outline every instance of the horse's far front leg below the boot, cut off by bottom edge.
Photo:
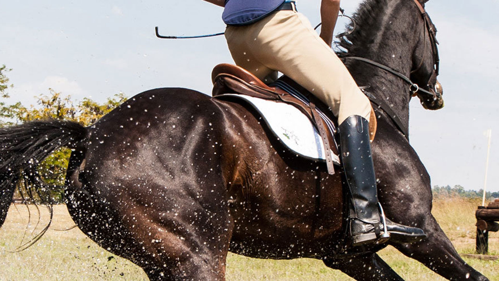
[{"label": "horse's far front leg below the boot, cut off by bottom edge", "polygon": [[340,270],[355,280],[403,281],[377,254],[332,257],[323,260],[332,269]]}]

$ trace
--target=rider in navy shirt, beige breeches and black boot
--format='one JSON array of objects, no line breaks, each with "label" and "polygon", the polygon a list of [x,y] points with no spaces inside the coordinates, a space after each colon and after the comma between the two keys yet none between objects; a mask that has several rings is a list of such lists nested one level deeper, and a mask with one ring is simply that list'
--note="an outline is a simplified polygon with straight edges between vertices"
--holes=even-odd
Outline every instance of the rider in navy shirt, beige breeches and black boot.
[{"label": "rider in navy shirt, beige breeches and black boot", "polygon": [[[419,228],[382,224],[371,159],[376,118],[369,99],[331,49],[340,0],[321,0],[320,35],[296,12],[293,0],[206,0],[225,6],[225,36],[234,61],[265,83],[282,72],[326,103],[338,118],[342,162],[350,190],[348,219],[352,245],[411,243]],[[369,133],[371,131],[371,133]]]}]

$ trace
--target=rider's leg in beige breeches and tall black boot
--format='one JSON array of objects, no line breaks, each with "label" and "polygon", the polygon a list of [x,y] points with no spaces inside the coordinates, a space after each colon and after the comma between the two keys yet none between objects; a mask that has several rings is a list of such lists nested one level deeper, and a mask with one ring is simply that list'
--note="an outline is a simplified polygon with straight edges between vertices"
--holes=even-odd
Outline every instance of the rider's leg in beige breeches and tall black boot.
[{"label": "rider's leg in beige breeches and tall black boot", "polygon": [[[371,118],[369,99],[341,60],[308,20],[293,11],[278,11],[248,26],[228,27],[226,38],[238,65],[260,78],[272,69],[281,71],[329,105],[338,117],[341,150],[351,150],[342,160],[352,198],[349,222],[354,245],[376,240],[380,214],[367,130],[367,120],[375,118]],[[354,123],[357,119],[362,122]],[[397,241],[424,237],[420,229],[388,225]]]}]

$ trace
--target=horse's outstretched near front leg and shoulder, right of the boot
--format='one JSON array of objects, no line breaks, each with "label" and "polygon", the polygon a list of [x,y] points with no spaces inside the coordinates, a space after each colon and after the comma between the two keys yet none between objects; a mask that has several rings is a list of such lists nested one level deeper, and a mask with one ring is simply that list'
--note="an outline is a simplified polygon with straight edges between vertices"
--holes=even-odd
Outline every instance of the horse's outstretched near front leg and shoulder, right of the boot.
[{"label": "horse's outstretched near front leg and shoulder, right of the boot", "polygon": [[393,155],[399,161],[378,162],[379,200],[389,219],[421,228],[427,235],[419,243],[393,246],[449,280],[488,280],[461,259],[431,214],[430,176],[415,152],[407,147]]}]

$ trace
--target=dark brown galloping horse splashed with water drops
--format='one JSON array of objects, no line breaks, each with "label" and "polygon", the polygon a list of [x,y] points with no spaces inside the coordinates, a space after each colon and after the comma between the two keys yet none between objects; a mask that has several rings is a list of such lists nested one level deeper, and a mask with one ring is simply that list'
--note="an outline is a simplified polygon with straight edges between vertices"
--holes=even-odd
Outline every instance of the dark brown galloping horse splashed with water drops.
[{"label": "dark brown galloping horse splashed with water drops", "polygon": [[[225,280],[228,251],[320,259],[356,280],[402,280],[376,254],[387,245],[447,279],[488,280],[460,258],[432,216],[430,176],[401,129],[412,92],[392,73],[427,91],[435,75],[431,26],[416,7],[426,1],[415,1],[363,2],[341,56],[360,86],[389,101],[389,108],[374,106],[372,143],[385,214],[423,229],[426,239],[344,247],[341,169],[329,175],[325,163],[284,148],[244,103],[185,88],[140,93],[89,127],[52,120],[0,129],[0,224],[16,183],[43,194],[37,164],[65,146],[73,150],[65,198],[74,222],[151,280]],[[416,94],[425,108],[443,106],[441,96]]]}]

